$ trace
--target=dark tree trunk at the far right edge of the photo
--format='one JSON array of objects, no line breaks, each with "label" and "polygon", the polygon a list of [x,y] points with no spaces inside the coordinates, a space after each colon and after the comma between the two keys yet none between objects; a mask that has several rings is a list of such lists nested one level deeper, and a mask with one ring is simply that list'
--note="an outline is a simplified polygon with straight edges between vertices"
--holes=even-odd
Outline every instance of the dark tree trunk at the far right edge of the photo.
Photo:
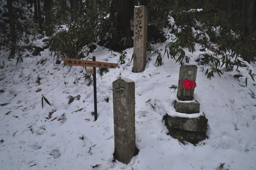
[{"label": "dark tree trunk at the far right edge of the photo", "polygon": [[252,38],[253,38],[253,7],[254,0],[245,1],[245,28],[244,28],[244,40],[243,47],[243,59],[248,63],[251,62],[252,58]]}]

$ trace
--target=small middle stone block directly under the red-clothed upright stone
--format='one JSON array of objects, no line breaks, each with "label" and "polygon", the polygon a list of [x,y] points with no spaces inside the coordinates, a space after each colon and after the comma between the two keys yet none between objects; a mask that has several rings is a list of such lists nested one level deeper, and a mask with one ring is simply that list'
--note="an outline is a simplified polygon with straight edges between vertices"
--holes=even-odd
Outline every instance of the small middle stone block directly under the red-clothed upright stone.
[{"label": "small middle stone block directly under the red-clothed upright stone", "polygon": [[196,102],[182,102],[174,101],[174,108],[176,112],[193,114],[200,112],[200,103]]}]

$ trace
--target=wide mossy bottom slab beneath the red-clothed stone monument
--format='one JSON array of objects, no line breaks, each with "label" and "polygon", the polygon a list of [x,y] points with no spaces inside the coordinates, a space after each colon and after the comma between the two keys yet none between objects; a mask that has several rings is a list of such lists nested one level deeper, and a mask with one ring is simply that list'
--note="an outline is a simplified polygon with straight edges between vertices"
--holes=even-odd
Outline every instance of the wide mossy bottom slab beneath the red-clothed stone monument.
[{"label": "wide mossy bottom slab beneath the red-clothed stone monument", "polygon": [[204,116],[200,118],[167,117],[170,128],[186,131],[206,132],[208,119]]}]

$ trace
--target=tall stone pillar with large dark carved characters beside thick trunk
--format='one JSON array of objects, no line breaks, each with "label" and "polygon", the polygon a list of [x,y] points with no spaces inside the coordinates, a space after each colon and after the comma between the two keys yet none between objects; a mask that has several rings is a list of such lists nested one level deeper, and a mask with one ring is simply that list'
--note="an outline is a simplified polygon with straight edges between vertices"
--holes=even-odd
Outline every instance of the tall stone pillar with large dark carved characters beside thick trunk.
[{"label": "tall stone pillar with large dark carved characters beside thick trunk", "polygon": [[147,52],[147,9],[139,6],[134,8],[133,32],[133,72],[142,72],[146,64]]}]

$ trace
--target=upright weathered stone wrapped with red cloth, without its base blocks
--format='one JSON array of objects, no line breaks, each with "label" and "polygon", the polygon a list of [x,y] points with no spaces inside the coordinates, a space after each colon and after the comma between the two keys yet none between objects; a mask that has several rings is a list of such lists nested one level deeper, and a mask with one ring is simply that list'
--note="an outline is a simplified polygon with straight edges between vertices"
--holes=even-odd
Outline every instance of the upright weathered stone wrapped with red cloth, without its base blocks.
[{"label": "upright weathered stone wrapped with red cloth, without its base blocks", "polygon": [[178,85],[177,90],[177,98],[182,101],[186,100],[193,100],[194,98],[194,90],[195,85],[193,88],[187,89],[184,87],[184,80],[190,80],[196,82],[197,77],[197,66],[196,65],[184,65],[180,67],[180,75],[179,81],[180,84]]}]

